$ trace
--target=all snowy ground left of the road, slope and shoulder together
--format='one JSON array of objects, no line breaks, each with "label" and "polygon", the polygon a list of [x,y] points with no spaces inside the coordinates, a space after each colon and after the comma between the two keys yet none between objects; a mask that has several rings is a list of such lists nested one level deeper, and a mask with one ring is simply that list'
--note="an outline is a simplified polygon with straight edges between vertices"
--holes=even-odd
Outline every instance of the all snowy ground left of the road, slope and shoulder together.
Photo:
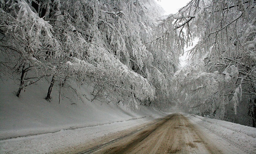
[{"label": "all snowy ground left of the road, slope and shoulder together", "polygon": [[91,102],[94,96],[89,86],[72,85],[85,103],[63,87],[58,104],[58,83],[52,101],[47,102],[44,98],[50,84],[46,81],[23,89],[20,97],[15,95],[18,83],[10,79],[0,82],[0,153],[47,153],[166,115],[146,106],[135,113],[123,105]]}]

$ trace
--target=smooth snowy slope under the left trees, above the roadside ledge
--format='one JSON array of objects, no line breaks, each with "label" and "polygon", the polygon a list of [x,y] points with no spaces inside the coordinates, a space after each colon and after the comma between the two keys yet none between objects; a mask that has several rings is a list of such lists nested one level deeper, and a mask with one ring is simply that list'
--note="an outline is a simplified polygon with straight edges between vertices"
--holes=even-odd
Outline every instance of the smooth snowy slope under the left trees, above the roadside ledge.
[{"label": "smooth snowy slope under the left trees, above the roadside ledge", "polygon": [[61,88],[60,104],[59,85],[52,91],[52,101],[44,98],[49,83],[46,81],[33,84],[16,97],[18,83],[11,79],[0,81],[0,139],[18,136],[57,132],[65,129],[104,125],[114,122],[150,116],[159,117],[160,113],[153,108],[142,107],[136,113],[126,106],[103,100],[94,100],[92,87],[73,84],[85,103],[74,97],[72,90]]}]

